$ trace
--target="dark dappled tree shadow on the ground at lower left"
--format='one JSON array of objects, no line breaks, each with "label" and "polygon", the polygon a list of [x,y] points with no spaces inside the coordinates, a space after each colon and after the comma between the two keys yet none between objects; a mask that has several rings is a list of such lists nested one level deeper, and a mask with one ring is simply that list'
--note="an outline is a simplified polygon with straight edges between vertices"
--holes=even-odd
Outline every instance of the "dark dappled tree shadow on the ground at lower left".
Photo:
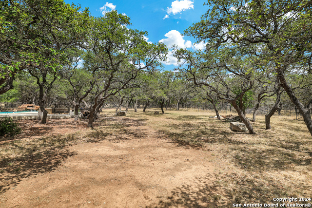
[{"label": "dark dappled tree shadow on the ground at lower left", "polygon": [[25,150],[25,154],[21,156],[2,158],[0,160],[0,194],[17,186],[22,179],[56,170],[62,161],[76,154],[68,150],[43,152]]}]

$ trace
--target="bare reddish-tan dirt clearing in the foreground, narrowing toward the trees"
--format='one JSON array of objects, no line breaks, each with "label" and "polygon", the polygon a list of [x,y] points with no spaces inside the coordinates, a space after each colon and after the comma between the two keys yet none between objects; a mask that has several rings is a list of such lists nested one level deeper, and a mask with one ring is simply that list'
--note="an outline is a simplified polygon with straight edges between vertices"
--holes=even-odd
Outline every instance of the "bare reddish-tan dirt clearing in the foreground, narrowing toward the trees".
[{"label": "bare reddish-tan dirt clearing in the foreground, narrowing toward the trees", "polygon": [[215,184],[222,167],[210,151],[181,147],[146,121],[116,122],[124,135],[66,148],[55,170],[2,193],[0,207],[207,207],[226,194]]}]

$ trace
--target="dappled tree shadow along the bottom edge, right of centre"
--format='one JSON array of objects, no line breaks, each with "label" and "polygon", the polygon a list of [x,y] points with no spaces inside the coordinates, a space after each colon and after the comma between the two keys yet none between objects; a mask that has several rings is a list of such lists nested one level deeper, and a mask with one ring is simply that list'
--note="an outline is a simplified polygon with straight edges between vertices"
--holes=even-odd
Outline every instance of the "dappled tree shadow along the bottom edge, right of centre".
[{"label": "dappled tree shadow along the bottom edge, right of centre", "polygon": [[[309,187],[303,186],[302,189]],[[176,187],[169,197],[158,197],[158,204],[146,208],[230,208],[233,204],[273,204],[274,197],[296,197],[288,191],[279,180],[270,177],[214,173],[196,178],[192,185]]]}]

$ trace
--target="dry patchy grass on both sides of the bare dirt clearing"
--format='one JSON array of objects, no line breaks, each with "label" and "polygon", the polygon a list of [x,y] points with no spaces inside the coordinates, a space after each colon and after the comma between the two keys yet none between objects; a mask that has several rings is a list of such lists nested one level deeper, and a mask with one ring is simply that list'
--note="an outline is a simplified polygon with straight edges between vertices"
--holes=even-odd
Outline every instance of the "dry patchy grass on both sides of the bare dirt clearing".
[{"label": "dry patchy grass on both sides of the bare dirt clearing", "polygon": [[[114,111],[106,110],[105,113],[113,116]],[[253,123],[257,134],[251,135],[232,132],[228,121],[218,121],[209,116],[214,116],[214,113],[165,111],[165,114],[154,115],[154,110],[147,110],[146,113],[131,111],[125,119],[146,122],[178,146],[210,151],[213,155],[211,161],[222,167],[215,170],[216,176],[222,176],[215,186],[221,187],[224,194],[211,199],[217,201],[219,206],[273,203],[274,197],[312,196],[312,138],[302,120],[275,115],[271,120],[272,130],[268,131],[265,130],[264,116],[257,116]],[[136,122],[130,125],[136,125]],[[70,156],[64,148],[68,145],[103,139],[129,139],[136,134],[125,131],[124,125],[108,117],[98,121],[92,130],[2,143],[0,173],[9,170],[12,178],[6,179],[10,181],[14,177],[27,177],[34,171],[54,170],[59,161]],[[42,155],[54,155],[56,161],[43,161]],[[42,169],[42,166],[45,168]],[[182,195],[181,190],[176,191],[179,196]],[[187,204],[176,205],[183,207]]]}]

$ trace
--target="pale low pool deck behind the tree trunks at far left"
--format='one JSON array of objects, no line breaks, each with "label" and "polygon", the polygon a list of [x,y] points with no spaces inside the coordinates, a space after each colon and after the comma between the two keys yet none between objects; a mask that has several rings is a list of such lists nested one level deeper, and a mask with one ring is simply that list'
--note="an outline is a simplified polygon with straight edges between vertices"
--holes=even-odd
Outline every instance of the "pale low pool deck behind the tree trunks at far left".
[{"label": "pale low pool deck behind the tree trunks at far left", "polygon": [[[11,117],[13,120],[31,120],[38,119],[38,112],[23,112],[23,113],[1,113],[0,120],[5,116]],[[74,113],[70,114],[48,114],[47,119],[64,119],[73,118]]]}]

